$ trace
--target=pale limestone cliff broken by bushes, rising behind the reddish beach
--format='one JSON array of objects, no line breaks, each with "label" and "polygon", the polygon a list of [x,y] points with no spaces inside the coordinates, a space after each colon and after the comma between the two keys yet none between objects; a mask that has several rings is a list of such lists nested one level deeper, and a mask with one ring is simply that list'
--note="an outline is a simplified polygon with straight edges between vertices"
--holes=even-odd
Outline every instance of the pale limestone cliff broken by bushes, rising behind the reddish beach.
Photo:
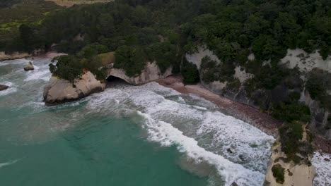
[{"label": "pale limestone cliff broken by bushes, rising behind the reddish beach", "polygon": [[[194,54],[187,54],[187,61],[197,65],[201,80],[203,70],[201,68],[202,58],[209,56],[211,60],[216,63],[221,63],[221,60],[217,56],[207,49],[207,46],[199,46],[198,51]],[[254,54],[250,54],[246,63],[252,63],[255,60]],[[247,104],[256,109],[268,109],[272,102],[284,101],[291,92],[298,92],[301,94],[300,101],[305,103],[310,108],[313,120],[310,124],[310,129],[323,135],[328,140],[331,140],[331,116],[330,111],[323,109],[323,106],[318,101],[312,100],[308,92],[303,89],[306,82],[306,76],[308,73],[313,72],[315,69],[324,70],[327,73],[331,82],[331,57],[329,56],[323,60],[322,56],[318,52],[313,54],[307,54],[302,49],[289,49],[284,58],[279,62],[286,68],[298,68],[301,75],[290,75],[286,77],[283,82],[274,87],[274,89],[254,89],[248,95],[245,89],[245,82],[250,78],[254,77],[254,74],[247,73],[243,66],[236,66],[235,74],[233,75],[233,82],[204,82],[202,85],[209,89],[211,92],[222,95],[228,99],[238,101],[243,104]],[[269,61],[265,61],[262,66],[269,65]],[[291,84],[291,87],[287,86]],[[328,87],[328,94],[331,95],[331,87]]]}]

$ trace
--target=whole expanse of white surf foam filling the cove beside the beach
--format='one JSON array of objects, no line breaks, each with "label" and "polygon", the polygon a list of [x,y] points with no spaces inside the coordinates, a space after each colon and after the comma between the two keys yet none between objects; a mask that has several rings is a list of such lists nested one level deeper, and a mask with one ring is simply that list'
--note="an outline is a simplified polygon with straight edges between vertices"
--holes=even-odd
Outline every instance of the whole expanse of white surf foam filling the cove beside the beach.
[{"label": "whole expanse of white surf foam filling the cove beside the beach", "polygon": [[148,130],[149,140],[163,146],[178,145],[190,158],[208,161],[227,185],[233,181],[239,185],[263,183],[274,138],[215,111],[216,106],[210,101],[183,97],[154,82],[134,87],[120,85],[93,94],[88,100],[86,108],[93,113],[138,111],[144,116],[142,127]]}]

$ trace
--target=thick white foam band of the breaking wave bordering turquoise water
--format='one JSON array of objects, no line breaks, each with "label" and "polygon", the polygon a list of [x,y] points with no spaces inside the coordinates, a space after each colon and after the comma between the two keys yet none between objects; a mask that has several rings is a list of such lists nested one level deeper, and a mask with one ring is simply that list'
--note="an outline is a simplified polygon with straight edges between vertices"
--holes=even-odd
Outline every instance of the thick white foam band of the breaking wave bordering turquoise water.
[{"label": "thick white foam band of the breaking wave bordering turquoise water", "polygon": [[153,120],[149,115],[137,111],[139,115],[146,118],[146,126],[149,131],[149,140],[160,142],[163,146],[178,145],[178,150],[187,154],[197,161],[207,161],[215,166],[220,175],[223,176],[226,185],[236,182],[239,185],[262,185],[265,175],[258,171],[250,171],[243,166],[232,163],[223,156],[213,154],[199,147],[193,138],[183,135],[183,132],[174,128],[170,123]]}]

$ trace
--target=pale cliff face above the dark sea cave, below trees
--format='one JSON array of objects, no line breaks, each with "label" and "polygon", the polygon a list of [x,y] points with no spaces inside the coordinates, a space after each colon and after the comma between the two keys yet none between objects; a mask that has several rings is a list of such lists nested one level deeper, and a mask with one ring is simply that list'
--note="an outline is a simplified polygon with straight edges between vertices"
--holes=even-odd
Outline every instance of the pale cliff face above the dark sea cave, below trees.
[{"label": "pale cliff face above the dark sea cave, below trees", "polygon": [[160,80],[171,75],[172,68],[168,68],[165,73],[161,73],[160,68],[156,65],[156,62],[147,63],[141,75],[137,77],[129,77],[125,75],[125,71],[122,69],[112,68],[108,72],[108,76],[119,77],[120,79],[128,82],[131,85],[142,85],[146,82]]}]

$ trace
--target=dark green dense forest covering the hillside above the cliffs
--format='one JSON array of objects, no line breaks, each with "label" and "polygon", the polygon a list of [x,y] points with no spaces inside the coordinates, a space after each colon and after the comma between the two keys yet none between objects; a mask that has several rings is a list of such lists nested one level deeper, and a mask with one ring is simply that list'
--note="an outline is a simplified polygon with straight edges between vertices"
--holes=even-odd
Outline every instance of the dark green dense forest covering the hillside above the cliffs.
[{"label": "dark green dense forest covering the hillside above the cliffs", "polygon": [[[255,54],[255,66],[262,67],[262,61],[271,59],[273,71],[289,48],[308,52],[318,49],[323,58],[330,54],[330,6],[328,0],[118,0],[74,6],[47,14],[40,26],[28,25],[33,32],[21,33],[21,37],[30,35],[33,39],[25,40],[22,49],[31,51],[57,43],[60,50],[76,54],[95,42],[115,51],[123,45],[159,49],[162,46],[158,44],[166,41],[174,46],[162,50],[180,56],[183,51],[207,44],[228,68],[228,75],[239,64],[254,70],[245,63],[251,52]],[[83,35],[83,41],[73,42],[78,34]],[[3,47],[1,50],[11,49]],[[175,61],[170,62],[166,55],[159,64],[163,70]],[[265,71],[258,73],[265,77]],[[272,86],[268,82],[262,86],[265,84]]]}]

